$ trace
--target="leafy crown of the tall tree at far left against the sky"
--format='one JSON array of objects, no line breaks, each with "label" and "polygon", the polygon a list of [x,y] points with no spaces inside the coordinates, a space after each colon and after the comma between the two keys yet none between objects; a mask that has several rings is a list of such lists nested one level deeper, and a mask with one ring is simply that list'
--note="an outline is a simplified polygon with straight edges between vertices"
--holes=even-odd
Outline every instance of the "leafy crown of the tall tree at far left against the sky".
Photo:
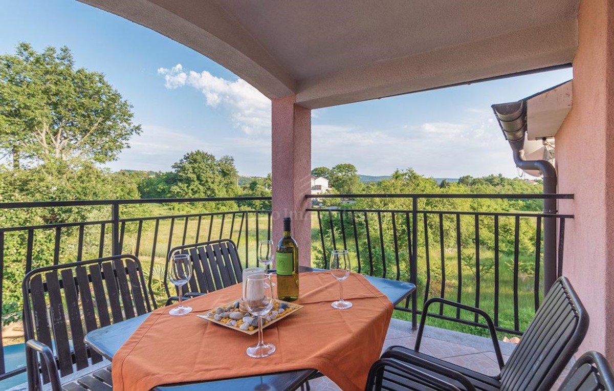
[{"label": "leafy crown of the tall tree at far left against the sky", "polygon": [[68,47],[21,42],[0,56],[0,150],[24,160],[105,163],[141,133],[132,106],[100,72],[76,68]]}]

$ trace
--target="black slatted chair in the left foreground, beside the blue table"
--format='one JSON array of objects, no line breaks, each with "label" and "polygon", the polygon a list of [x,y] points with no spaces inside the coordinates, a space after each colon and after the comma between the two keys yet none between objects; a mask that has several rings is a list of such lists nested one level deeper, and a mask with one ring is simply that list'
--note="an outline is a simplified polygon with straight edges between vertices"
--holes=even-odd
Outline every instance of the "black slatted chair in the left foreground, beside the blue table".
[{"label": "black slatted chair in the left foreground, beside the blue table", "polygon": [[112,390],[111,366],[68,384],[62,385],[61,378],[103,362],[84,343],[86,333],[152,310],[150,298],[155,302],[146,287],[141,263],[133,255],[47,266],[26,274],[23,314],[29,390],[40,390],[46,383],[53,391]]}]

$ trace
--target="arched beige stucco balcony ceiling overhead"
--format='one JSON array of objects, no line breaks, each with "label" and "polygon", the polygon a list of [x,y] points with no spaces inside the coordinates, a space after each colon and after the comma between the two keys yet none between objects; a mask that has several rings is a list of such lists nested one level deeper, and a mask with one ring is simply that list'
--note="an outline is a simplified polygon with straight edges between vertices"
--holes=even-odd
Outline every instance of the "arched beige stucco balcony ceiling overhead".
[{"label": "arched beige stucco balcony ceiling overhead", "polygon": [[578,0],[81,0],[308,108],[571,63]]}]

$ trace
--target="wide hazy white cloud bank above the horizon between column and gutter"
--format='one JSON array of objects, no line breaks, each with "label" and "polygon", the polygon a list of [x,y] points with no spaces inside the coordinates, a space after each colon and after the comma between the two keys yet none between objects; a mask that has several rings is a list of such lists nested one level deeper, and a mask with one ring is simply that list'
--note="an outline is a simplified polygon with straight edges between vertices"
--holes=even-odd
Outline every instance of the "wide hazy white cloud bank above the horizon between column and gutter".
[{"label": "wide hazy white cloud bank above the horizon between column and gutter", "polygon": [[373,175],[390,174],[395,168],[413,168],[434,177],[516,175],[510,147],[496,123],[486,117],[386,131],[314,125],[312,137],[314,167],[349,162],[361,174]]}]

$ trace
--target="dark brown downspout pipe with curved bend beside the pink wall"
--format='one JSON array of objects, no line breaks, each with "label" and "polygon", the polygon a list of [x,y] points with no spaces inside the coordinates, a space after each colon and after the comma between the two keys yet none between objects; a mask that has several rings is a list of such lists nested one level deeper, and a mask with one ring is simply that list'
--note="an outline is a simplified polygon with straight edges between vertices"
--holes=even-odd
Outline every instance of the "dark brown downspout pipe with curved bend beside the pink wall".
[{"label": "dark brown downspout pipe with curved bend beside the pink wall", "polygon": [[[556,194],[556,170],[546,160],[526,160],[524,158],[524,139],[527,131],[526,103],[518,101],[492,105],[495,117],[503,131],[505,139],[510,143],[514,163],[523,170],[539,170],[543,176],[543,193]],[[543,212],[556,214],[556,199],[543,200]],[[556,271],[556,245],[557,245],[556,218],[545,217],[543,222],[543,288],[544,293],[550,290],[557,277]]]}]

